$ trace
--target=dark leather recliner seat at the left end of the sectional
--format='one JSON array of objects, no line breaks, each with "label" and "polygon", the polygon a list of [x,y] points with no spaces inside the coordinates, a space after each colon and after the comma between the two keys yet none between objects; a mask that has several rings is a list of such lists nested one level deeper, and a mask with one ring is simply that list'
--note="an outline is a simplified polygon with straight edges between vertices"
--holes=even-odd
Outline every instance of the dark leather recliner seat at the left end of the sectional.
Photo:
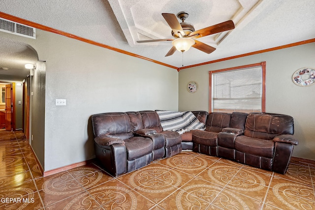
[{"label": "dark leather recliner seat at the left end of the sectional", "polygon": [[114,177],[134,171],[153,160],[153,141],[134,136],[129,116],[123,112],[92,116],[95,155]]}]

